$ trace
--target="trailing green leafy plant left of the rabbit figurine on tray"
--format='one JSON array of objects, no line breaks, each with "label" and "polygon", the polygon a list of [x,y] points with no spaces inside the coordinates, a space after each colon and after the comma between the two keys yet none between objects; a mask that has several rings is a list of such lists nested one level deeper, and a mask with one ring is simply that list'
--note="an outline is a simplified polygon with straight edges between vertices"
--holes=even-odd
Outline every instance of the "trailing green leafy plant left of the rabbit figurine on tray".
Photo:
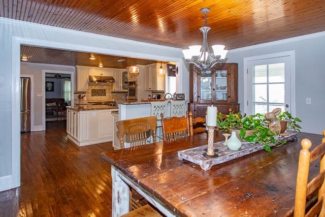
[{"label": "trailing green leafy plant left of the rabbit figurine on tray", "polygon": [[[229,115],[225,115],[225,118],[222,118],[222,114],[218,113],[217,125],[219,130],[238,130],[240,139],[263,144],[264,149],[269,152],[271,151],[269,144],[283,144],[283,142],[275,140],[276,134],[272,133],[268,128],[268,122],[263,114],[257,113],[249,116],[245,114],[242,116],[240,113],[234,114],[234,112],[231,112]],[[246,135],[247,131],[251,131],[251,135]]]}]

